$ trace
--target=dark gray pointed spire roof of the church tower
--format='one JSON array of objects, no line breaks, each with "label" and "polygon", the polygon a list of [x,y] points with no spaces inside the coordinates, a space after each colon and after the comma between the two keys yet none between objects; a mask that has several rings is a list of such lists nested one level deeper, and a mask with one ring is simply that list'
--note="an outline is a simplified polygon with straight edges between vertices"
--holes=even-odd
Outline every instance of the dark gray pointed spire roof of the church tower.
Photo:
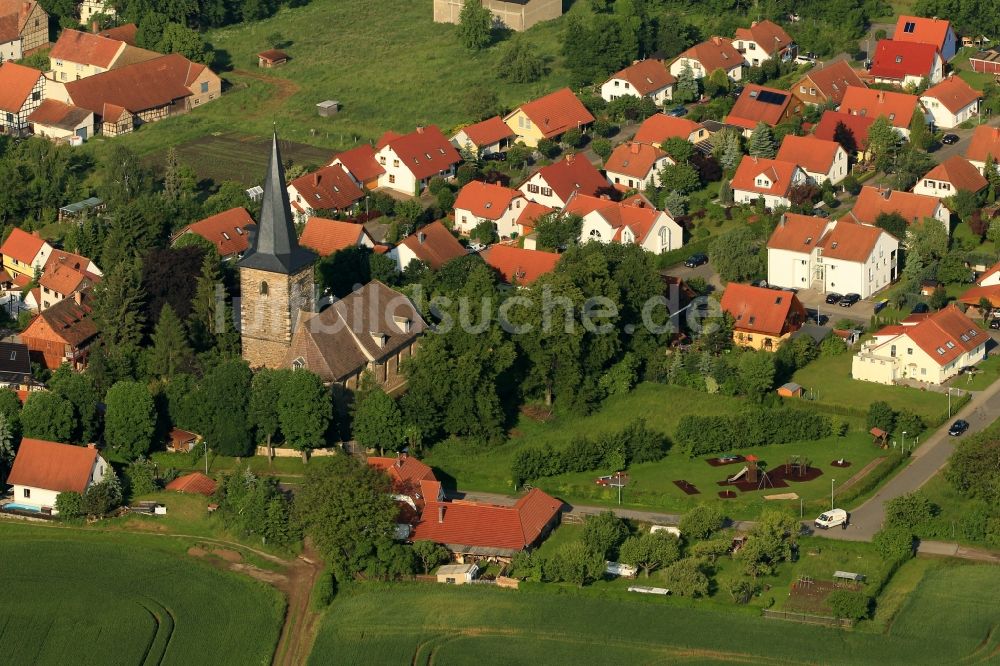
[{"label": "dark gray pointed spire roof of the church tower", "polygon": [[250,247],[240,259],[240,268],[256,268],[270,273],[290,275],[316,261],[316,255],[299,246],[281,165],[278,135],[271,139],[271,158],[264,180],[264,198],[260,223],[247,233]]}]

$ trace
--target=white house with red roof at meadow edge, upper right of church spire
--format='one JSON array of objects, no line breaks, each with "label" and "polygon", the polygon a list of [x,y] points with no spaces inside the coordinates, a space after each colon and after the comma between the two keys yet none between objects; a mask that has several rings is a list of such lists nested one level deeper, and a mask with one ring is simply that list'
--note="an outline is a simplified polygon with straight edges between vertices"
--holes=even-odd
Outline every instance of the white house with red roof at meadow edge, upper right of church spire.
[{"label": "white house with red roof at meadow edge, upper right of church spire", "polygon": [[428,125],[403,136],[383,134],[375,146],[375,161],[384,170],[379,187],[419,195],[431,178],[452,178],[462,156],[437,125]]}]

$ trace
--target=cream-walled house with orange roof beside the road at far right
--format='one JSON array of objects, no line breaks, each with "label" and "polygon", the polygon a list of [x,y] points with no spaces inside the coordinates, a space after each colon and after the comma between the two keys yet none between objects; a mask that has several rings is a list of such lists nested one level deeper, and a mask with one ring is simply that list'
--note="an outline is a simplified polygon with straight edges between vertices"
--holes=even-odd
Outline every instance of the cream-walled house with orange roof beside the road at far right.
[{"label": "cream-walled house with orange roof beside the road at far right", "polygon": [[949,305],[877,331],[855,354],[851,375],[879,384],[902,379],[941,384],[986,358],[989,340],[989,334]]}]

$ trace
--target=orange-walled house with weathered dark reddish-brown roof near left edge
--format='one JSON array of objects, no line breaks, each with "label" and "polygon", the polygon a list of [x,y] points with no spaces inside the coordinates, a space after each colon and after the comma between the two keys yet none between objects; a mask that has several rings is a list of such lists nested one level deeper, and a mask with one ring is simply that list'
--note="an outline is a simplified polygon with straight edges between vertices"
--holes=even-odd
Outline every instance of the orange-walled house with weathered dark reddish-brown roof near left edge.
[{"label": "orange-walled house with weathered dark reddish-brown roof near left edge", "polygon": [[87,365],[89,347],[97,338],[90,318],[89,292],[76,292],[39,312],[21,333],[32,357],[49,370],[68,363],[74,370]]}]

